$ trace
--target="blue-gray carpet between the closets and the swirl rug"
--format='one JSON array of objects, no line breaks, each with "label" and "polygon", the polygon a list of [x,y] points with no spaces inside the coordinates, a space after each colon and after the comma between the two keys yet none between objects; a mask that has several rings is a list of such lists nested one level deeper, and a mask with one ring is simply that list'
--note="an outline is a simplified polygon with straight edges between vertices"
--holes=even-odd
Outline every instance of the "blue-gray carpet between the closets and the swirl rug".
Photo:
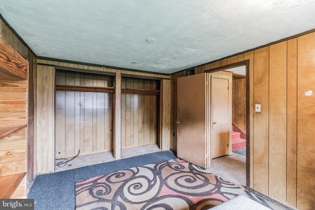
[{"label": "blue-gray carpet between the closets and the swirl rug", "polygon": [[176,156],[171,151],[158,151],[78,169],[39,175],[33,183],[28,197],[34,199],[35,210],[74,210],[75,181],[173,158]]}]

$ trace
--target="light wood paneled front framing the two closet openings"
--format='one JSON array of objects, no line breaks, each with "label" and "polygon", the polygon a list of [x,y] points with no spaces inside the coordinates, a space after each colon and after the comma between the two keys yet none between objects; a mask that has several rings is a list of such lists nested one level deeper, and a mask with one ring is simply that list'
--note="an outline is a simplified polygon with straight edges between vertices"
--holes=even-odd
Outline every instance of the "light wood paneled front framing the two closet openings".
[{"label": "light wood paneled front framing the two closet openings", "polygon": [[[81,64],[73,64],[66,62],[58,62],[51,60],[39,60],[37,59],[37,173],[48,173],[54,171],[54,160],[55,160],[55,149],[51,147],[54,145],[55,137],[54,137],[54,105],[51,104],[54,101],[54,74],[55,74],[55,65],[72,67],[72,68],[80,68],[87,70],[95,70],[101,72],[113,72],[116,73],[115,78],[115,133],[114,135],[114,155],[116,159],[121,157],[121,75],[126,77],[154,77],[160,78],[163,84],[169,82],[169,75],[160,75],[154,73],[145,73],[145,72],[136,72],[136,71],[127,71],[120,69],[111,69],[106,67],[98,67],[92,65],[81,65]],[[165,81],[165,82],[164,82]],[[170,93],[170,90],[165,90]],[[166,94],[163,96],[163,100],[165,102],[164,106],[164,121],[165,121],[165,129],[161,129],[161,136],[164,135],[162,141],[166,142],[165,150],[169,150],[169,113],[170,106],[170,94]],[[162,118],[162,119],[163,119]],[[165,119],[168,118],[168,119]],[[97,123],[96,123],[97,124]],[[152,132],[153,134],[153,132]],[[151,135],[151,134],[150,134]],[[43,148],[44,145],[48,145],[47,148]],[[168,148],[167,148],[168,147]],[[49,150],[49,151],[48,151]],[[57,151],[57,150],[56,150]]]}]

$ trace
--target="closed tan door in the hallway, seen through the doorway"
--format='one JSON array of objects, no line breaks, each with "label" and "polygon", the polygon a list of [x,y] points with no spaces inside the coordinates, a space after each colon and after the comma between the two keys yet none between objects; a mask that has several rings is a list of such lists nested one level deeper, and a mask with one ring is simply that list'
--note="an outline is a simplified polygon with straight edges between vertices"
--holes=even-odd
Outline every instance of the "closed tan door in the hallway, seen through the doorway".
[{"label": "closed tan door in the hallway, seen through the doorway", "polygon": [[211,77],[212,95],[212,132],[211,132],[211,157],[221,157],[228,154],[228,106],[229,106],[229,80],[226,77]]}]

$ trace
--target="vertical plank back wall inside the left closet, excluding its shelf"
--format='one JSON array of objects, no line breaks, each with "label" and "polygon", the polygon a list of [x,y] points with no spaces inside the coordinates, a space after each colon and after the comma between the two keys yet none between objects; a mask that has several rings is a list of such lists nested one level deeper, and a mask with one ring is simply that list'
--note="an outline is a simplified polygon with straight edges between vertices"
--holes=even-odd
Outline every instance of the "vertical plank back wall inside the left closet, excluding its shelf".
[{"label": "vertical plank back wall inside the left closet, excluding its shelf", "polygon": [[[56,70],[56,85],[113,87],[113,77]],[[56,91],[56,158],[112,150],[111,93]]]}]

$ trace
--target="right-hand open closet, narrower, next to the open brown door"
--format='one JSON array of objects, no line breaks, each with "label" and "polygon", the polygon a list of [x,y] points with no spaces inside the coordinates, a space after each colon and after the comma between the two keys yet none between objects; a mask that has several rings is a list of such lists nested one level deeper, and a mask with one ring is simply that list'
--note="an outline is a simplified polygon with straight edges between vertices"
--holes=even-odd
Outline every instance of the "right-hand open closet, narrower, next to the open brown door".
[{"label": "right-hand open closet, narrower, next to the open brown door", "polygon": [[161,150],[160,83],[122,77],[122,158]]}]

